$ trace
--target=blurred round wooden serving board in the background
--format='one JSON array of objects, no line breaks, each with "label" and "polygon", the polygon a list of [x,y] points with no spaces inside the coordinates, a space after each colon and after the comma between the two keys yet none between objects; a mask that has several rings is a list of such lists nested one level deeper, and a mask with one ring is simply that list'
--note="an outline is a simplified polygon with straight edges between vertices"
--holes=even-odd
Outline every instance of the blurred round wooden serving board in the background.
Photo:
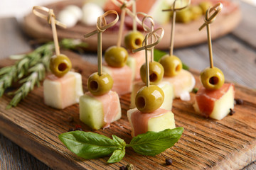
[{"label": "blurred round wooden serving board in the background", "polygon": [[[86,0],[85,0],[86,1]],[[65,8],[70,4],[77,6],[82,6],[84,1],[73,0],[73,1],[60,1],[54,4],[46,5],[48,8],[53,8],[55,15],[61,9]],[[233,2],[230,2],[231,4]],[[229,6],[228,6],[229,7]],[[238,4],[232,4],[231,10],[227,13],[220,13],[216,18],[214,23],[210,24],[212,38],[218,38],[222,35],[230,33],[233,28],[235,28],[240,22],[241,12]],[[228,9],[229,10],[229,9]],[[157,21],[157,18],[155,18]],[[198,28],[203,24],[203,16],[196,21],[191,23],[176,23],[175,28],[175,40],[174,47],[186,47],[190,45],[196,45],[201,42],[207,41],[206,29],[201,31]],[[161,40],[159,45],[156,47],[160,50],[169,49],[170,38],[171,38],[171,23],[161,26],[165,30],[164,38]],[[63,29],[58,27],[58,37],[59,38],[78,38],[85,42],[88,42],[88,47],[86,50],[97,51],[97,35],[90,38],[83,38],[83,35],[90,33],[95,30],[96,26],[85,26],[82,23],[78,23],[73,28]],[[33,13],[28,14],[23,21],[23,30],[33,38],[41,39],[52,39],[53,34],[50,25],[41,18],[38,18]],[[124,30],[124,34],[128,30]],[[107,47],[117,44],[117,30],[111,31],[106,30],[102,33],[102,50],[106,50]],[[124,46],[124,40],[122,40],[122,45]]]}]

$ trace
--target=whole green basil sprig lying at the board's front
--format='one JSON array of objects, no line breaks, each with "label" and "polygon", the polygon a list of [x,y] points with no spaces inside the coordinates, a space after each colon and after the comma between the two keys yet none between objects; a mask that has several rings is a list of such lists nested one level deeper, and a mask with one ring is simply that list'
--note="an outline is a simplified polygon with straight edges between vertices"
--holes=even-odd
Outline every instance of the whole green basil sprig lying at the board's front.
[{"label": "whole green basil sprig lying at the board's front", "polygon": [[119,162],[125,154],[125,147],[132,147],[135,152],[155,156],[178,142],[183,128],[166,129],[161,132],[146,132],[133,137],[129,145],[121,138],[112,135],[113,140],[93,132],[73,131],[59,135],[63,144],[79,157],[95,159],[111,155],[107,163]]}]

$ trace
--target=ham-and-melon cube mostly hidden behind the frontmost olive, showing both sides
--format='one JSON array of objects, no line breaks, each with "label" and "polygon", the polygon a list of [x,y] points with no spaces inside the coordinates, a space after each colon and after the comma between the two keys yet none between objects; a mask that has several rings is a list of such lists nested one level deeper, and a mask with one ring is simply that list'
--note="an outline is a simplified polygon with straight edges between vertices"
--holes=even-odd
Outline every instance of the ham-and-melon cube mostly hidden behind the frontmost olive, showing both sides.
[{"label": "ham-and-melon cube mostly hidden behind the frontmost olive, showing both sides", "polygon": [[[144,82],[138,81],[137,83],[134,83],[132,86],[132,94],[131,94],[131,105],[130,108],[135,108],[135,98],[137,95],[137,92],[139,89],[141,89],[143,86],[145,86]],[[174,88],[173,85],[170,84],[167,81],[161,81],[159,84],[157,84],[163,91],[164,91],[164,102],[162,103],[160,108],[164,108],[166,110],[171,111],[172,108],[172,102],[174,98]]]}]

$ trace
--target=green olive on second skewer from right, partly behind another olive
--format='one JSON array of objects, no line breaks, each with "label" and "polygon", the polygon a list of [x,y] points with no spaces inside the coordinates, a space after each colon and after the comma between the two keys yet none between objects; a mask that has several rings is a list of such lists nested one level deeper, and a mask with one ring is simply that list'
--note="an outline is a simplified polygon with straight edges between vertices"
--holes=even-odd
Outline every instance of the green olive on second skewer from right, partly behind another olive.
[{"label": "green olive on second skewer from right, partly behind another olive", "polygon": [[166,77],[174,77],[181,72],[182,62],[175,55],[165,55],[159,62],[164,67],[164,76]]}]

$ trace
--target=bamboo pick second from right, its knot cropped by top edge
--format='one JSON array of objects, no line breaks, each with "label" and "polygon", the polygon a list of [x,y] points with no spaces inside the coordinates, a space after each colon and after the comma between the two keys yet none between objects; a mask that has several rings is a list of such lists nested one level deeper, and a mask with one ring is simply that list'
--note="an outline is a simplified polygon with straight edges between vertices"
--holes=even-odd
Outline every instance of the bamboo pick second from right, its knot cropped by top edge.
[{"label": "bamboo pick second from right, its knot cropped by top edge", "polygon": [[162,11],[173,11],[173,16],[171,18],[171,41],[170,41],[170,52],[169,55],[174,55],[174,30],[175,30],[175,24],[176,24],[176,11],[179,11],[183,8],[186,8],[190,4],[190,0],[188,1],[188,4],[186,6],[183,6],[182,8],[176,8],[175,7],[176,0],[174,0],[174,4],[172,5],[171,9],[164,9]]}]

